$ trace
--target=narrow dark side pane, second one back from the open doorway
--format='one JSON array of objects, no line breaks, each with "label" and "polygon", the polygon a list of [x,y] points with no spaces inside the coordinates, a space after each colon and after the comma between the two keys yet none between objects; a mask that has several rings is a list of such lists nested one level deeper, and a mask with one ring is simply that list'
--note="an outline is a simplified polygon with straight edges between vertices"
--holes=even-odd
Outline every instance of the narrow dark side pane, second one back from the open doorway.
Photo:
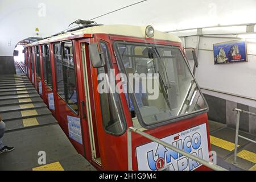
[{"label": "narrow dark side pane, second one back from the open doorway", "polygon": [[61,51],[60,51],[60,43],[53,44],[53,57],[55,64],[55,80],[57,86],[57,93],[65,98],[65,90],[64,90],[64,79],[63,79],[63,66],[61,62]]}]

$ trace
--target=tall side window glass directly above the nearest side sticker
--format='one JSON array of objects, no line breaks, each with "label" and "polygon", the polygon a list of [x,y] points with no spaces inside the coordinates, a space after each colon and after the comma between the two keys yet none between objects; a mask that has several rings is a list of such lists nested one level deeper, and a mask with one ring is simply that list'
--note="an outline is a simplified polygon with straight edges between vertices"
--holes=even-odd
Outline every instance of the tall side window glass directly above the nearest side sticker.
[{"label": "tall side window glass directly above the nearest side sticker", "polygon": [[73,58],[72,42],[61,43],[62,48],[62,65],[63,65],[63,85],[65,91],[65,100],[67,105],[73,111],[78,113],[77,89],[76,89],[76,72]]}]

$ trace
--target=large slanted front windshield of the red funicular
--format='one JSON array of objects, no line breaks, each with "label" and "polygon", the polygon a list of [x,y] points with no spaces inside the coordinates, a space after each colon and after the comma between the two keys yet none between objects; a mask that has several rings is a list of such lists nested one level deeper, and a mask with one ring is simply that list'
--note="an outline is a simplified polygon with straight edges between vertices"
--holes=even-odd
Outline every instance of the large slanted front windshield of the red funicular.
[{"label": "large slanted front windshield of the red funicular", "polygon": [[[127,74],[127,85],[133,90],[126,94],[129,110],[131,113],[136,111],[142,126],[176,121],[207,110],[179,48],[118,42],[115,51],[119,69]],[[129,76],[135,73],[137,76],[133,77],[132,83]],[[139,84],[135,81],[138,75]],[[123,87],[128,92],[125,84]]]}]

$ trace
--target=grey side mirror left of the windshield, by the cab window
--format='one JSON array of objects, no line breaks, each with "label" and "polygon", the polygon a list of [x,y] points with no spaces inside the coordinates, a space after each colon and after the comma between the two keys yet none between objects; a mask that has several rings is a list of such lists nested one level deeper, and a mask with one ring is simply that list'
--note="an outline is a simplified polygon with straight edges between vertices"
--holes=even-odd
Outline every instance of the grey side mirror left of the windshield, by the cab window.
[{"label": "grey side mirror left of the windshield, by the cab window", "polygon": [[106,65],[103,52],[98,51],[97,43],[89,44],[89,55],[90,55],[90,61],[92,62],[93,68],[101,68]]}]

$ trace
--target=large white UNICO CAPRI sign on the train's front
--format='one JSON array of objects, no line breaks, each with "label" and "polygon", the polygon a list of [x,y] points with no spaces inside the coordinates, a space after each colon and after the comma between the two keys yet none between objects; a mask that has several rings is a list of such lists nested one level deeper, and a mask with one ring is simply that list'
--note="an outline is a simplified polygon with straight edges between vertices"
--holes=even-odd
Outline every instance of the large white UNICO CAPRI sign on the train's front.
[{"label": "large white UNICO CAPRI sign on the train's front", "polygon": [[[209,161],[207,127],[205,123],[170,135],[162,140]],[[136,152],[138,168],[143,171],[192,171],[201,166],[195,160],[189,159],[156,142],[139,146],[136,148]]]}]

